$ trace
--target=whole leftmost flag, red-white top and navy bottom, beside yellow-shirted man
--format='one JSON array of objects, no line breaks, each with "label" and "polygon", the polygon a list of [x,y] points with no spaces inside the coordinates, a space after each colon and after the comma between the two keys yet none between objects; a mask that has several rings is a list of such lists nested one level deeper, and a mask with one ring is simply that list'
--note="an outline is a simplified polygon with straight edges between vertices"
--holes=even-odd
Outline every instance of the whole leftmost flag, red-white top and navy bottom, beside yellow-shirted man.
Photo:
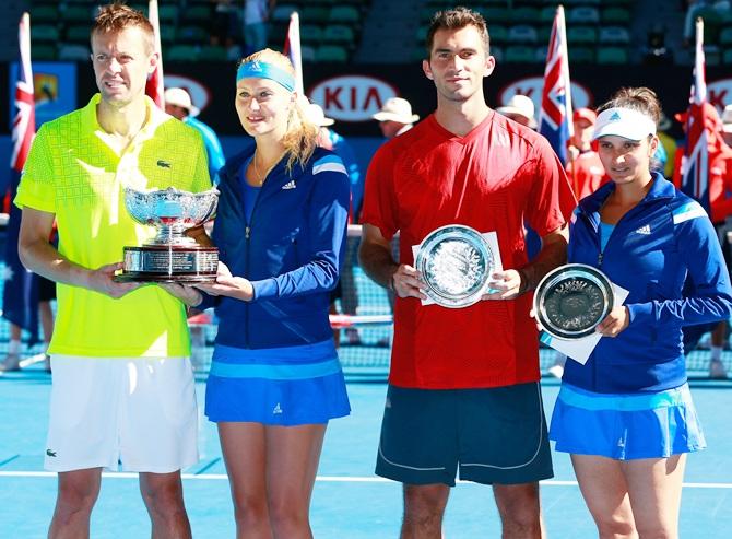
[{"label": "whole leftmost flag, red-white top and navy bottom, beside yellow-shirted man", "polygon": [[31,17],[23,13],[19,27],[20,62],[15,82],[15,117],[13,119],[13,151],[10,157],[10,219],[5,237],[4,288],[2,316],[29,331],[29,343],[38,341],[38,279],[26,270],[17,256],[21,210],[12,203],[21,173],[36,132],[33,73],[31,71]]}]

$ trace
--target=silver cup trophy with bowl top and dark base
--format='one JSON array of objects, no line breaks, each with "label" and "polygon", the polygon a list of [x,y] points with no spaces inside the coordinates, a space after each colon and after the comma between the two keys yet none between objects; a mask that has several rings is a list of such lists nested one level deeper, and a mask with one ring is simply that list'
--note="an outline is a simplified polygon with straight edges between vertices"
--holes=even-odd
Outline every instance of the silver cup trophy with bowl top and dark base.
[{"label": "silver cup trophy with bowl top and dark base", "polygon": [[184,233],[209,221],[216,211],[219,191],[189,192],[168,187],[138,191],[125,188],[125,207],[138,223],[157,229],[152,242],[125,247],[118,282],[214,281],[219,249],[198,245]]}]

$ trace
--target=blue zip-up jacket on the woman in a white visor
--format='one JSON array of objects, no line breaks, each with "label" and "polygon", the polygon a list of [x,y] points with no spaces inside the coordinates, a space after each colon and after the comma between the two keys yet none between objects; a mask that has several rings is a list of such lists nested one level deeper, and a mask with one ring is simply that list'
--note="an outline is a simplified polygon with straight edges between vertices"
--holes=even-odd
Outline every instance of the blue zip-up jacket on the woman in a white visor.
[{"label": "blue zip-up jacket on the woman in a white visor", "polygon": [[[644,200],[618,221],[600,250],[600,208],[609,183],[581,200],[569,232],[568,259],[602,270],[629,291],[628,327],[603,337],[587,364],[568,361],[563,382],[597,392],[659,391],[686,382],[682,326],[723,320],[732,290],[717,233],[701,206],[660,174]],[[684,297],[687,278],[693,296]]]}]

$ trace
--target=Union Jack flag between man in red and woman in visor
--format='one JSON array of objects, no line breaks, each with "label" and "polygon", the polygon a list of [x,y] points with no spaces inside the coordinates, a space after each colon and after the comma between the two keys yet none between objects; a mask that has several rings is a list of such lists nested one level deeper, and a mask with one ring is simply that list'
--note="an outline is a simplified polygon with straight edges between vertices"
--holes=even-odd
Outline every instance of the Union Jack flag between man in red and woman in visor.
[{"label": "Union Jack flag between man in red and woman in visor", "polygon": [[546,68],[542,106],[539,113],[539,132],[546,137],[563,164],[567,162],[567,142],[572,136],[569,61],[567,59],[567,30],[564,8],[554,16]]}]

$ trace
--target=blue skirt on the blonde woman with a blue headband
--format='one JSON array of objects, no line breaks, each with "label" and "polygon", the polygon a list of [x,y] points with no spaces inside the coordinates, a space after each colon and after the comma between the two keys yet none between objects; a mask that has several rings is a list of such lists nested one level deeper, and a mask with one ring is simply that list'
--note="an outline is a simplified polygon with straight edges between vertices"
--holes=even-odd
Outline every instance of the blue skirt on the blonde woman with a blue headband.
[{"label": "blue skirt on the blonde woman with a blue headband", "polygon": [[349,413],[332,340],[260,350],[214,348],[205,388],[211,421],[293,426],[327,423]]}]

